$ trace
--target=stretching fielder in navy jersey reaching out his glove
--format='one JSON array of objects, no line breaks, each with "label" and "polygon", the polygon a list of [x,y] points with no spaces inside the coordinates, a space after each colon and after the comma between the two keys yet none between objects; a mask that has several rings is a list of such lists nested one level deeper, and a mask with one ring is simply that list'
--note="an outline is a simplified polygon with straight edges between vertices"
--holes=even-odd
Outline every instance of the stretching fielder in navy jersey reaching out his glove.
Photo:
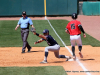
[{"label": "stretching fielder in navy jersey reaching out his glove", "polygon": [[43,30],[43,35],[36,33],[34,28],[32,28],[31,31],[33,32],[34,35],[37,35],[38,37],[42,38],[36,41],[34,44],[41,43],[42,41],[46,41],[47,44],[49,45],[48,47],[45,48],[45,57],[44,57],[44,60],[40,63],[47,63],[47,57],[48,57],[49,51],[53,51],[57,58],[66,58],[67,59],[66,61],[71,59],[70,56],[59,55],[60,46],[54,40],[54,38],[51,35],[49,35],[48,29]]}]

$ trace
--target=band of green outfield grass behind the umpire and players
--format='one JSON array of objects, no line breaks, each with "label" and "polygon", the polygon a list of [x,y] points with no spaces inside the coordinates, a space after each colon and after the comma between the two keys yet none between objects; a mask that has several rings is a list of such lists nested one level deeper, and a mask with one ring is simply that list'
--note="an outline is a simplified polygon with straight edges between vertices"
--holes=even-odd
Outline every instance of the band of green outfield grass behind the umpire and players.
[{"label": "band of green outfield grass behind the umpire and players", "polygon": [[[22,47],[21,40],[21,32],[20,28],[15,31],[15,27],[18,21],[0,21],[0,47]],[[62,38],[67,46],[70,44],[69,35],[65,33],[65,27],[68,23],[67,20],[50,20],[50,23],[57,31],[58,35]],[[54,39],[58,42],[60,46],[63,46],[62,42],[56,36],[52,28],[50,27],[47,20],[33,20],[33,24],[36,28],[37,33],[42,34],[44,29],[48,29],[50,31],[50,35],[54,37]],[[31,46],[36,47],[45,47],[48,46],[46,42],[42,42],[34,45],[34,42],[41,38],[35,36],[30,32],[28,37],[28,42]],[[87,34],[86,38],[83,38],[82,35],[82,44],[83,45],[91,45],[91,46],[100,46],[100,41],[91,37]]]}]

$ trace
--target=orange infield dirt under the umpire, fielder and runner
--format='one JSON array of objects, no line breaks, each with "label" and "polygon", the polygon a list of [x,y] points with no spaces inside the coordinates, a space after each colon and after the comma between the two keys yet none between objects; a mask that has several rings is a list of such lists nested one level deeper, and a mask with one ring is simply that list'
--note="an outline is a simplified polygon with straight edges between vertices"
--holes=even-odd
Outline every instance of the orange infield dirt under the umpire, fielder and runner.
[{"label": "orange infield dirt under the umpire, fielder and runner", "polygon": [[[68,46],[71,48],[70,46]],[[92,75],[100,75],[100,47],[83,46],[83,59],[78,55],[76,47],[76,56],[80,62],[91,71]],[[71,56],[65,47],[61,47],[60,54]],[[33,47],[30,53],[22,54],[21,47],[3,47],[0,48],[0,66],[63,66],[68,75],[86,75],[86,72],[79,66],[76,61],[66,61],[66,59],[55,58],[53,52],[49,52],[48,63],[40,64],[44,59],[44,47]],[[71,72],[68,72],[71,71]],[[75,72],[77,71],[77,72]],[[92,72],[95,71],[95,72]]]}]

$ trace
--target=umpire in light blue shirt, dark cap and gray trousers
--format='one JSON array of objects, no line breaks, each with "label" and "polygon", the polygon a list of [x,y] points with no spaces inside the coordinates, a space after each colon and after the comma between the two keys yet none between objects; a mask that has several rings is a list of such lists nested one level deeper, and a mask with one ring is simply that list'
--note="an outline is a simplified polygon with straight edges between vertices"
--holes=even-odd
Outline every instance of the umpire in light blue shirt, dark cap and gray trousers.
[{"label": "umpire in light blue shirt, dark cap and gray trousers", "polygon": [[27,52],[30,52],[31,50],[31,46],[27,42],[27,38],[29,35],[29,25],[31,25],[31,27],[34,28],[32,20],[28,18],[26,16],[26,12],[23,11],[22,18],[19,19],[18,24],[15,28],[15,30],[17,30],[19,26],[21,27],[21,38],[23,41],[22,53],[25,53],[26,47],[28,49]]}]

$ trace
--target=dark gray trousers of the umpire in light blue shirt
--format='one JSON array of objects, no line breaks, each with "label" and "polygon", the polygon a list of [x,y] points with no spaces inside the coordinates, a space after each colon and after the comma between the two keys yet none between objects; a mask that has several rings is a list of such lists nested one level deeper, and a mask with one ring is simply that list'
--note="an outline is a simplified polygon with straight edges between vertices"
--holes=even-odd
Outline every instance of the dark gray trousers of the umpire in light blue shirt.
[{"label": "dark gray trousers of the umpire in light blue shirt", "polygon": [[22,41],[23,41],[22,51],[25,51],[26,47],[28,49],[31,48],[31,46],[27,42],[28,34],[29,34],[29,29],[21,29],[21,37],[22,37]]}]

